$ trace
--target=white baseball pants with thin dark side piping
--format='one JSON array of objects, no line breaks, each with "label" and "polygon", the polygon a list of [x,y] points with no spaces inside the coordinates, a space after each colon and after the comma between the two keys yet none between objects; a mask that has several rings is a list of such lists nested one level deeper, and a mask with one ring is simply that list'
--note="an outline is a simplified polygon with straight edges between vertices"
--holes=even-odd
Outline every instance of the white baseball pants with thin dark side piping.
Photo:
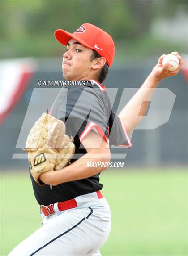
[{"label": "white baseball pants with thin dark side piping", "polygon": [[111,229],[111,211],[97,193],[75,198],[77,207],[46,217],[8,256],[101,256]]}]

